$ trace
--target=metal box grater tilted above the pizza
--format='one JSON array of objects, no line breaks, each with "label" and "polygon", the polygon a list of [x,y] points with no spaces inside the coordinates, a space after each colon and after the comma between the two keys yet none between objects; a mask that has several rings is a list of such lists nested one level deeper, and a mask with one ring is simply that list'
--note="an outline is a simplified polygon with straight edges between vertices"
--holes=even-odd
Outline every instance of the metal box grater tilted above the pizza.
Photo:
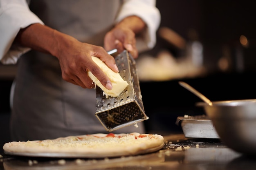
[{"label": "metal box grater tilted above the pizza", "polygon": [[95,116],[109,132],[148,119],[142,102],[135,60],[124,50],[115,57],[115,61],[119,74],[128,82],[128,86],[118,97],[106,97],[101,88],[96,87]]}]

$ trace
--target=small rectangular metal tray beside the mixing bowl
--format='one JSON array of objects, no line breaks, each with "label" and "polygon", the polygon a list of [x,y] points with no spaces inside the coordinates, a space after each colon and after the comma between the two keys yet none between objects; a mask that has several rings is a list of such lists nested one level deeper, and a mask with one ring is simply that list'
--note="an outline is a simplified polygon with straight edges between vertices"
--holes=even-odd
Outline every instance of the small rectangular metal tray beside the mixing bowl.
[{"label": "small rectangular metal tray beside the mixing bowl", "polygon": [[181,126],[185,137],[219,139],[212,121],[206,115],[177,117],[176,125]]}]

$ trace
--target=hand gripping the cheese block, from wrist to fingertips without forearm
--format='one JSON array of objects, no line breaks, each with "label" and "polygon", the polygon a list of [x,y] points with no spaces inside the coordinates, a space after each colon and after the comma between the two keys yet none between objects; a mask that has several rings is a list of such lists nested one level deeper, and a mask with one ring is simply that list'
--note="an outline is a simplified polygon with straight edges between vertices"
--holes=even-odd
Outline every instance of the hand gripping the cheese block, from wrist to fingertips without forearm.
[{"label": "hand gripping the cheese block, from wrist to fingertips without forearm", "polygon": [[91,56],[100,58],[109,68],[118,72],[115,59],[109,55],[103,47],[82,43],[73,38],[70,39],[72,43],[68,45],[65,44],[64,48],[60,45],[60,49],[62,50],[59,50],[60,53],[56,55],[61,66],[62,78],[82,88],[94,88],[95,85],[87,74],[87,71],[90,70],[103,86],[111,90],[112,84],[110,79],[101,68],[92,61]]}]

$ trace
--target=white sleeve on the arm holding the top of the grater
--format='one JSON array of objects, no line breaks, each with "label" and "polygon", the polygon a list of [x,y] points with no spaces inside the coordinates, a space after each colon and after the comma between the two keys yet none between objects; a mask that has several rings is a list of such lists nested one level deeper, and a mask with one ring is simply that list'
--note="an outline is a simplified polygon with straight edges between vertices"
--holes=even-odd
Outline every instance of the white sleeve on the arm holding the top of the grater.
[{"label": "white sleeve on the arm holding the top of the grater", "polygon": [[160,24],[161,15],[155,7],[155,0],[125,0],[116,22],[130,16],[137,15],[147,25],[142,37],[138,37],[137,48],[139,51],[152,49],[156,43],[156,31]]}]

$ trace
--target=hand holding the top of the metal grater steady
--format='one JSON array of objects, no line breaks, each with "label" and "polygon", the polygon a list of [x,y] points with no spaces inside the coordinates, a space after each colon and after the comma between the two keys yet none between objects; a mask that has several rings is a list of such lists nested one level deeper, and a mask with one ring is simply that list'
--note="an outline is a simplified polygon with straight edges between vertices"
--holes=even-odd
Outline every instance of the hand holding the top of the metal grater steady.
[{"label": "hand holding the top of the metal grater steady", "polygon": [[129,16],[117,23],[104,38],[104,48],[106,51],[117,49],[119,53],[125,49],[131,53],[134,58],[138,57],[136,48],[136,34],[140,33],[146,24],[137,16]]}]

